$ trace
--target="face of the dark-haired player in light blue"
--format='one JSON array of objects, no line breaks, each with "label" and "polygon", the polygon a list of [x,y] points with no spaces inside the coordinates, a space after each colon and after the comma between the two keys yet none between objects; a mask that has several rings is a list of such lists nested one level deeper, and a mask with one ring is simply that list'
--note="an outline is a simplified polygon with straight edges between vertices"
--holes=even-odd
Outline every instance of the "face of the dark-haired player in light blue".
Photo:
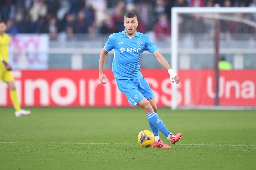
[{"label": "face of the dark-haired player in light blue", "polygon": [[134,18],[128,18],[126,17],[124,19],[124,26],[125,26],[125,32],[127,34],[127,36],[135,36],[135,31],[136,31],[136,28],[138,26],[138,23],[139,21],[137,21],[137,19],[134,17]]}]

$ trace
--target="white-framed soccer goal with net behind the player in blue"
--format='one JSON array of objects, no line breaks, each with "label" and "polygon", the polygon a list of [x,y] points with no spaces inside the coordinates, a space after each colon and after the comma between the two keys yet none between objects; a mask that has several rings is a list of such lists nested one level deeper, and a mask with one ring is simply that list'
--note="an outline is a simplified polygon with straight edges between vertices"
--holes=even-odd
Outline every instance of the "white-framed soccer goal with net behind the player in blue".
[{"label": "white-framed soccer goal with net behind the player in blue", "polygon": [[256,10],[172,8],[171,108],[256,108]]}]

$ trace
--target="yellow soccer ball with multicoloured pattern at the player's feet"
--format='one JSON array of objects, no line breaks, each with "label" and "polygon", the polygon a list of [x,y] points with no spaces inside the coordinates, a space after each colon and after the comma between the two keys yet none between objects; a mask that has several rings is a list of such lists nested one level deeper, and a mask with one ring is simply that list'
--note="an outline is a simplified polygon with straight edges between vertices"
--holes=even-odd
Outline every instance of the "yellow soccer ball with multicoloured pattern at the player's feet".
[{"label": "yellow soccer ball with multicoloured pattern at the player's feet", "polygon": [[142,147],[150,147],[155,142],[155,136],[151,131],[143,130],[138,135],[138,142]]}]

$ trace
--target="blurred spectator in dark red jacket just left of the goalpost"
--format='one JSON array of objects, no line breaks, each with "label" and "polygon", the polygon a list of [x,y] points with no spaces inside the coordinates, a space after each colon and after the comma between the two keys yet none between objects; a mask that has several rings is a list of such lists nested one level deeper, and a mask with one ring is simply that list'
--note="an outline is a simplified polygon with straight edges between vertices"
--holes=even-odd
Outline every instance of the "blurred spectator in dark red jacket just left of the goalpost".
[{"label": "blurred spectator in dark red jacket just left of the goalpost", "polygon": [[156,22],[153,30],[156,40],[166,41],[169,39],[169,36],[171,35],[171,23],[165,13],[161,14],[159,21]]}]

